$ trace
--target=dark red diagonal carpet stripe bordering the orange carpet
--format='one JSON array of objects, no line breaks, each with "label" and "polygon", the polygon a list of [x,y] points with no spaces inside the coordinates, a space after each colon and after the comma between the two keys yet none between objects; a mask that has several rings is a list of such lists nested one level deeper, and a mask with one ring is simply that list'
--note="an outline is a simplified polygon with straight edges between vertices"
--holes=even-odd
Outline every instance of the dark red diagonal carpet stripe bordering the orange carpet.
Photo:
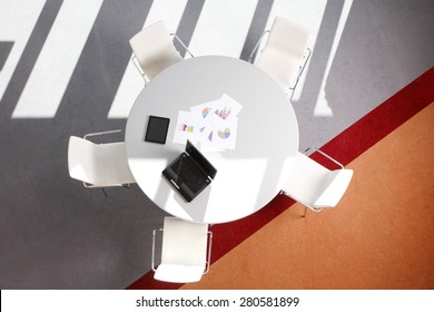
[{"label": "dark red diagonal carpet stripe bordering the orange carpet", "polygon": [[[324,145],[322,150],[333,155],[344,165],[347,165],[434,101],[433,86],[434,68],[431,68],[416,80]],[[313,155],[313,158],[316,157],[317,155]],[[214,242],[211,263],[224,256],[293,204],[294,201],[290,198],[278,195],[263,209],[249,217],[213,226]],[[169,290],[179,289],[180,285],[181,284],[158,282],[154,280],[154,272],[150,271],[127,289]]]}]

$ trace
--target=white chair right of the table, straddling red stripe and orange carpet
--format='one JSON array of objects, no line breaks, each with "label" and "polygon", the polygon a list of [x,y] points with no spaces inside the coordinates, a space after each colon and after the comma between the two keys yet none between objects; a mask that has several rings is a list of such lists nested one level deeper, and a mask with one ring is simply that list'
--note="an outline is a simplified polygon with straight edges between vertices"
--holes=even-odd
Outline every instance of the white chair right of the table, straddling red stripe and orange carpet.
[{"label": "white chair right of the table, straddling red stripe and orange carpet", "polygon": [[327,157],[341,169],[331,170],[303,153],[297,153],[294,169],[282,193],[302,203],[314,212],[320,212],[326,207],[334,207],[344,196],[353,177],[352,169],[344,166],[324,152],[309,147]]}]

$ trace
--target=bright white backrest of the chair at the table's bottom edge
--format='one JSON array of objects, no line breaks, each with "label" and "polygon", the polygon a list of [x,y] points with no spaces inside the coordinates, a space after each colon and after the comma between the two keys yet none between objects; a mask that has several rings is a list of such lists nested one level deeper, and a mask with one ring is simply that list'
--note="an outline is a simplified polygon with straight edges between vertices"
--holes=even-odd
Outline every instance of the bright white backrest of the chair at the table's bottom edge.
[{"label": "bright white backrest of the chair at the table's bottom edge", "polygon": [[200,281],[204,274],[203,265],[183,265],[161,263],[158,265],[154,279],[172,283],[194,283]]}]

